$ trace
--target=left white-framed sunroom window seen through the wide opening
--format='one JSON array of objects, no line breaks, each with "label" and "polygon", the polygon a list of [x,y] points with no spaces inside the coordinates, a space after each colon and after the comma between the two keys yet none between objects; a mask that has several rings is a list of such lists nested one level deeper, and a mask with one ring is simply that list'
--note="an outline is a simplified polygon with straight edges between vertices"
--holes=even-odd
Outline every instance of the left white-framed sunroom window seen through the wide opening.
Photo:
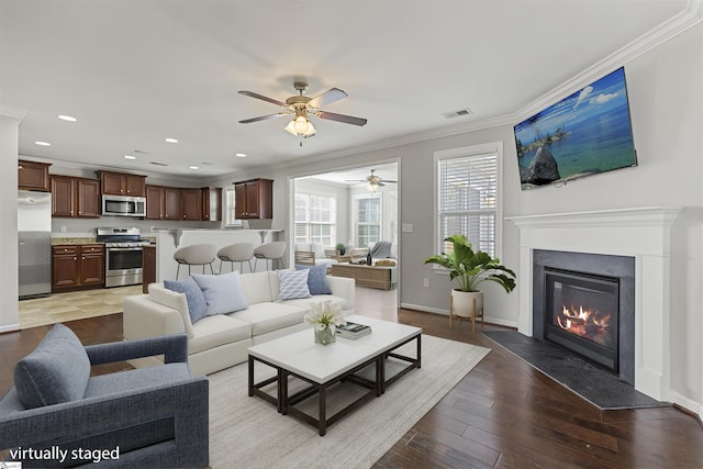
[{"label": "left white-framed sunroom window seen through the wide opening", "polygon": [[331,196],[295,193],[295,243],[336,243],[337,201]]}]

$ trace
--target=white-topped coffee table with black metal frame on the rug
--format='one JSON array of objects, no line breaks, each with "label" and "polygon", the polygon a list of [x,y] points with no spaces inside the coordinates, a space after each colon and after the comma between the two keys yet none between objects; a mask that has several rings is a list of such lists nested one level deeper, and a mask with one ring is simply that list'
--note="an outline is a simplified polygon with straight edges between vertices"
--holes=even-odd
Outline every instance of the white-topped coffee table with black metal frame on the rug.
[{"label": "white-topped coffee table with black metal frame on the rug", "polygon": [[[409,371],[421,367],[422,330],[404,324],[353,315],[348,321],[371,326],[371,334],[355,340],[337,336],[330,345],[314,343],[312,325],[310,330],[290,334],[248,348],[249,353],[249,395],[257,395],[276,405],[281,414],[290,414],[317,427],[324,436],[327,426],[349,414],[375,397],[386,392],[386,388],[398,381]],[[398,347],[416,340],[415,357],[393,353]],[[386,377],[386,359],[393,357],[408,361],[408,366],[390,378]],[[255,381],[254,364],[263,362],[276,369],[272,378]],[[362,369],[375,366],[375,378],[358,375]],[[294,376],[310,386],[289,395],[288,378]],[[367,388],[369,391],[332,416],[326,415],[327,389],[342,380]],[[277,382],[277,395],[261,388]],[[317,418],[300,411],[295,404],[319,394]]]}]

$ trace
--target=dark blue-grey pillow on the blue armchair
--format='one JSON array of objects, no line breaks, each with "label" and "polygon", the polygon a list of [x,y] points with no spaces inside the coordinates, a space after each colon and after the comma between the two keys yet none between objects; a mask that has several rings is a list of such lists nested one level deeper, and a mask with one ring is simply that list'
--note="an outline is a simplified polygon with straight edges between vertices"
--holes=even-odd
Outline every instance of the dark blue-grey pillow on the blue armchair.
[{"label": "dark blue-grey pillow on the blue armchair", "polygon": [[90,359],[71,330],[56,324],[14,367],[14,386],[27,409],[82,399]]}]

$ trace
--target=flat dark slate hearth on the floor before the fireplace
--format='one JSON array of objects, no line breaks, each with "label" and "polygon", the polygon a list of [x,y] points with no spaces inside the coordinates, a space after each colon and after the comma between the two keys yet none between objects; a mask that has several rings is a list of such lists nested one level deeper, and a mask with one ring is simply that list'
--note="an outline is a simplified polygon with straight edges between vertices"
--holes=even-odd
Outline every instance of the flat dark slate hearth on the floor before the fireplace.
[{"label": "flat dark slate hearth on the floor before the fireplace", "polygon": [[549,342],[527,337],[517,331],[484,331],[483,335],[599,409],[670,405],[643,394],[612,371]]}]

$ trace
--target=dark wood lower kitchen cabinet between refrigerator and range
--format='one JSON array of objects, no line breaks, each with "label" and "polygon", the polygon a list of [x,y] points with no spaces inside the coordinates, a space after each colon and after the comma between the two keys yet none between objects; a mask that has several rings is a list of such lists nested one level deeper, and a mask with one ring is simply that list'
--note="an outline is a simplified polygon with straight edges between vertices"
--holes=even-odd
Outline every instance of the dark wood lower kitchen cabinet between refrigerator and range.
[{"label": "dark wood lower kitchen cabinet between refrigerator and range", "polygon": [[52,246],[52,290],[100,288],[105,279],[101,244]]}]

